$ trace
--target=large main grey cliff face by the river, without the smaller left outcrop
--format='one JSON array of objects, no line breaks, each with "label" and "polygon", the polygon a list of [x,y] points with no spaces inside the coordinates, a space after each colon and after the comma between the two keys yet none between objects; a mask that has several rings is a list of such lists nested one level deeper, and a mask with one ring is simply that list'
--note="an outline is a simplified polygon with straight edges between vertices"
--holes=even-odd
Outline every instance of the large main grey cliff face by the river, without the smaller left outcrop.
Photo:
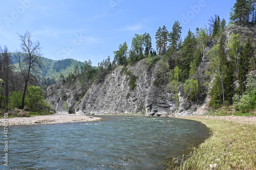
[{"label": "large main grey cliff face by the river, without the smaller left outcrop", "polygon": [[147,60],[126,68],[138,77],[136,87],[130,90],[129,76],[121,74],[123,66],[117,67],[102,83],[95,82],[78,105],[80,113],[144,113],[145,115],[170,114],[175,108],[171,95],[164,92],[164,85],[156,87],[154,80],[158,63],[148,69]]}]

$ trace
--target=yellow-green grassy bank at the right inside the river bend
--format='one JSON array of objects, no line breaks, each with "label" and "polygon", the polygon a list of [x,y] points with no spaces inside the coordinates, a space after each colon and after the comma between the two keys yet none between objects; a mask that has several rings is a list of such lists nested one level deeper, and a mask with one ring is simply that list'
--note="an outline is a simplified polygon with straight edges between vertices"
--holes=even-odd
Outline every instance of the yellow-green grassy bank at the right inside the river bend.
[{"label": "yellow-green grassy bank at the right inside the river bend", "polygon": [[256,169],[256,127],[220,119],[192,117],[211,130],[181,164],[173,159],[166,169]]}]

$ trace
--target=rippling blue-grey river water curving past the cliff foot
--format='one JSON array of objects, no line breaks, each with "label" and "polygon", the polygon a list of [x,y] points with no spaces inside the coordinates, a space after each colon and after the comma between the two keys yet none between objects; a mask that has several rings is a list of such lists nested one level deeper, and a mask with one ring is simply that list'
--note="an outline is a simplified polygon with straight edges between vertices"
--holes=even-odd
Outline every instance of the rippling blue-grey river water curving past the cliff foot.
[{"label": "rippling blue-grey river water curving past the cliff foot", "polygon": [[193,120],[98,117],[103,121],[9,127],[9,162],[1,169],[161,169],[167,156],[208,136]]}]

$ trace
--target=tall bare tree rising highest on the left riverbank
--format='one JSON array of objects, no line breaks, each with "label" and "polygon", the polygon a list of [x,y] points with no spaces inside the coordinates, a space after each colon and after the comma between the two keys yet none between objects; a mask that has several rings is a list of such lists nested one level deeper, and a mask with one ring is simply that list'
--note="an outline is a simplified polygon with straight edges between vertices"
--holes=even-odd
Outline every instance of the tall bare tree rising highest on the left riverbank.
[{"label": "tall bare tree rising highest on the left riverbank", "polygon": [[[18,34],[19,35],[19,34]],[[22,98],[22,108],[25,107],[25,96],[29,82],[36,81],[35,73],[38,68],[41,67],[41,46],[38,41],[31,41],[31,34],[26,32],[24,35],[19,35],[20,41],[20,52],[16,53],[16,60],[19,64],[19,69],[22,72],[25,87]]]}]

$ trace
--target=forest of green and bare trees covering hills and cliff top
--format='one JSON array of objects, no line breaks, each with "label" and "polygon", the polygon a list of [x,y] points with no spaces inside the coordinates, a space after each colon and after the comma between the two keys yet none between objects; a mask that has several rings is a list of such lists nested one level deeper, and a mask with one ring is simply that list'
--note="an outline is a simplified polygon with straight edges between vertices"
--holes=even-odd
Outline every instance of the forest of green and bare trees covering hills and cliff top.
[{"label": "forest of green and bare trees covering hills and cliff top", "polygon": [[[113,52],[113,61],[108,56],[98,66],[92,66],[91,60],[77,62],[65,59],[52,62],[43,58],[40,43],[32,41],[29,32],[19,35],[20,51],[11,53],[7,46],[0,47],[0,106],[54,112],[46,102],[48,86],[57,82],[71,85],[80,81],[86,84],[87,90],[95,81],[103,81],[116,67],[133,65],[147,59],[148,67],[160,60],[161,69],[154,83],[158,86],[168,81],[166,91],[175,94],[176,103],[179,102],[180,85],[184,85],[190,101],[196,104],[205,100],[202,90],[206,86],[209,88],[210,108],[233,106],[241,112],[254,111],[254,39],[248,37],[245,40],[239,34],[232,34],[231,38],[225,39],[224,32],[227,27],[233,26],[254,28],[256,2],[237,0],[231,8],[229,19],[230,22],[226,23],[224,18],[212,16],[204,28],[197,28],[194,33],[189,30],[184,40],[181,38],[182,27],[179,21],[175,21],[171,31],[165,26],[159,27],[155,35],[156,51],[153,50],[150,34],[135,34],[130,49],[126,42],[121,43]],[[205,72],[209,81],[200,84],[198,68],[205,55],[210,56],[210,65]],[[127,71],[126,74],[130,74],[130,89],[133,90],[136,77]]]}]

